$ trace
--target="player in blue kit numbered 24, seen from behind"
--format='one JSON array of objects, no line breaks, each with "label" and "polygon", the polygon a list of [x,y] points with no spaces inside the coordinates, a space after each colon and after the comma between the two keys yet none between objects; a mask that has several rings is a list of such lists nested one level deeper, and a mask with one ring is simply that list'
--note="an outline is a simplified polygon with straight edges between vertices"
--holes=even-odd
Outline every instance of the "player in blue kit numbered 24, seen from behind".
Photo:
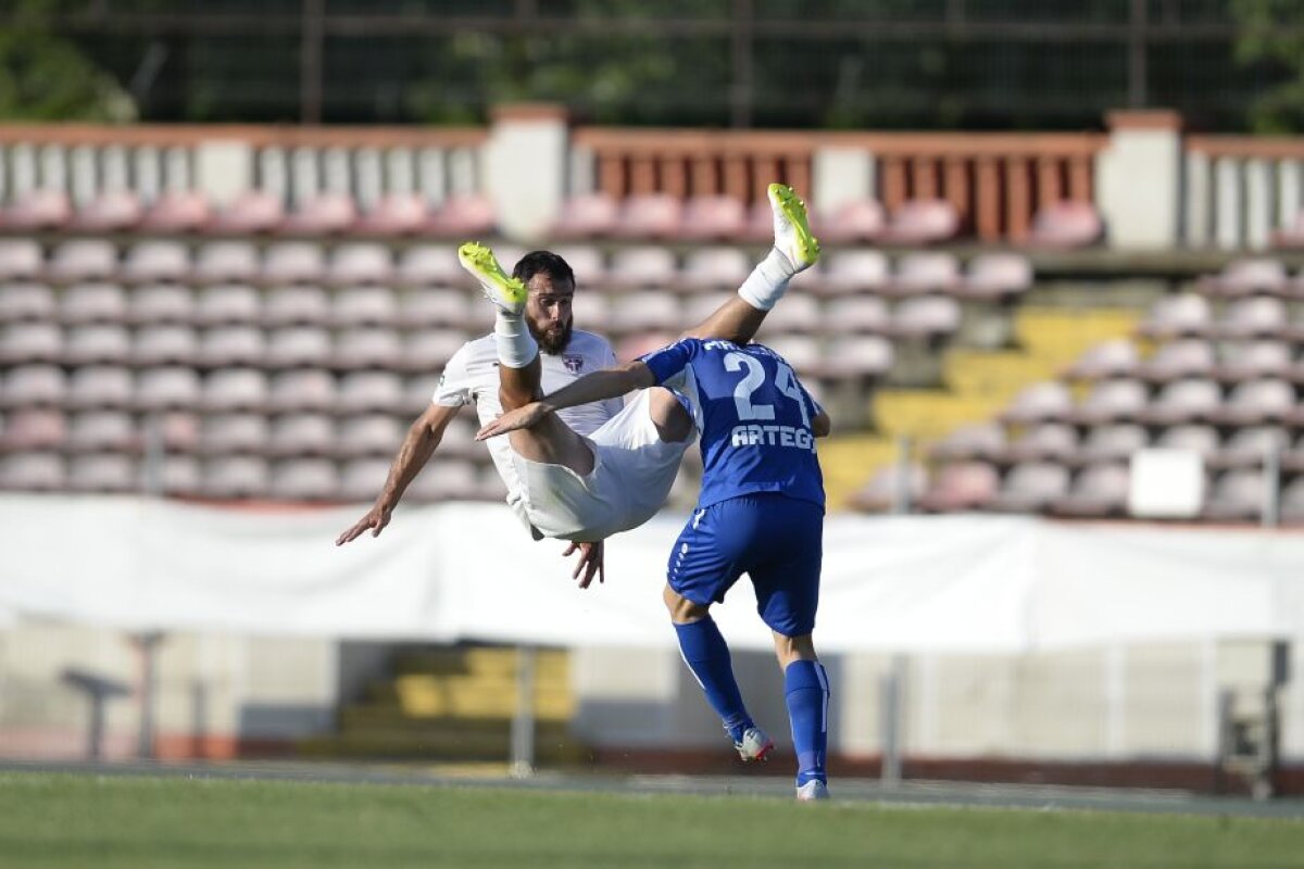
[{"label": "player in blue kit numbered 24, seen from behind", "polygon": [[562,408],[632,390],[669,388],[700,433],[702,492],[666,567],[665,605],[679,649],[739,756],[773,741],[748,715],[713,602],[747,573],[775,637],[797,749],[797,799],[828,797],[828,675],[811,634],[819,602],[824,481],[815,438],[828,414],[793,369],[760,344],[687,337],[570,386],[485,425],[479,439],[529,427]]}]

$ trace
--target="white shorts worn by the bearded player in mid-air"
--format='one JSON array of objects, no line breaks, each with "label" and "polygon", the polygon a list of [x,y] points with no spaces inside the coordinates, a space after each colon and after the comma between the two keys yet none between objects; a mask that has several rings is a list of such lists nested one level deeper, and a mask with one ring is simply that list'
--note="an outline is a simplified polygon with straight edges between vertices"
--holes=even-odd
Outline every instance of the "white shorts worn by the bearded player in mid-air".
[{"label": "white shorts worn by the bearded player in mid-air", "polygon": [[520,506],[544,537],[600,541],[638,528],[661,509],[692,438],[661,440],[652,422],[651,393],[642,390],[587,438],[593,448],[588,474],[512,452],[523,487]]}]

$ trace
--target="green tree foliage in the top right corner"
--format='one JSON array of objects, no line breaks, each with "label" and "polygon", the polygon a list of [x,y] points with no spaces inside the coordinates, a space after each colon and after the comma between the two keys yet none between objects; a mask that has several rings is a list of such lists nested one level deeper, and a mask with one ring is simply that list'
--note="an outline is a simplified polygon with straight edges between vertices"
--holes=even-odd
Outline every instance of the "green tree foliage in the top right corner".
[{"label": "green tree foliage in the top right corner", "polygon": [[[1249,106],[1257,133],[1304,130],[1304,13],[1299,0],[1232,0],[1240,26],[1236,59],[1281,70]],[[1278,77],[1274,77],[1278,78]]]}]

